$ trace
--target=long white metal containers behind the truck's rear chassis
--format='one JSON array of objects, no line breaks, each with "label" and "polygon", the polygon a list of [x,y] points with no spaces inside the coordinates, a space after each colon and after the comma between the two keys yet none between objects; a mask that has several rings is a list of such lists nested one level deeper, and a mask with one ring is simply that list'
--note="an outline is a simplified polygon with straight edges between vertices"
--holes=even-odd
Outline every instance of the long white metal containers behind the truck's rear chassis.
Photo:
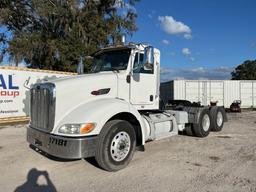
[{"label": "long white metal containers behind the truck's rear chassis", "polygon": [[161,83],[161,97],[189,100],[209,105],[218,101],[218,106],[229,108],[234,100],[241,100],[241,107],[256,107],[256,80],[173,80]]}]

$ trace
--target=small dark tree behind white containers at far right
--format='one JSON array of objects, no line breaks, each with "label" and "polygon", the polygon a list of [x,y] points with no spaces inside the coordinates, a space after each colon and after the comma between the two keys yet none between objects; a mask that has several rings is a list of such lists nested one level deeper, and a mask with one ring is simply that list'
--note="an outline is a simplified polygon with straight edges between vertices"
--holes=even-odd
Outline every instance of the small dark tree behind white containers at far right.
[{"label": "small dark tree behind white containers at far right", "polygon": [[247,60],[231,72],[232,80],[256,80],[256,60]]}]

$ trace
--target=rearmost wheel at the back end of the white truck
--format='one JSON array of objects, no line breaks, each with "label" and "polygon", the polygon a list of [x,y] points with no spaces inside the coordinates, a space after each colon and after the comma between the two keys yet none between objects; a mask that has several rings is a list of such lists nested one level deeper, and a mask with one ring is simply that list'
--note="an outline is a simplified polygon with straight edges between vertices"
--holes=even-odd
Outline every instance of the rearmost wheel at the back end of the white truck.
[{"label": "rearmost wheel at the back end of the white truck", "polygon": [[211,110],[212,123],[211,131],[221,131],[224,125],[224,108],[218,107],[216,110]]}]

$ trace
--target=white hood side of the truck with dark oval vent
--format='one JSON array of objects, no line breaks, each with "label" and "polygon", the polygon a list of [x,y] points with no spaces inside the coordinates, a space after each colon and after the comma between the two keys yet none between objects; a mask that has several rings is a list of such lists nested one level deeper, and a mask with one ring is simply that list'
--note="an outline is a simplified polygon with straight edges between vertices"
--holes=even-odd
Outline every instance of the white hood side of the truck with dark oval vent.
[{"label": "white hood side of the truck with dark oval vent", "polygon": [[[50,81],[55,84],[56,88],[55,122],[61,120],[79,105],[92,100],[117,97],[117,79],[117,74],[111,71]],[[99,90],[100,94],[97,95]]]}]

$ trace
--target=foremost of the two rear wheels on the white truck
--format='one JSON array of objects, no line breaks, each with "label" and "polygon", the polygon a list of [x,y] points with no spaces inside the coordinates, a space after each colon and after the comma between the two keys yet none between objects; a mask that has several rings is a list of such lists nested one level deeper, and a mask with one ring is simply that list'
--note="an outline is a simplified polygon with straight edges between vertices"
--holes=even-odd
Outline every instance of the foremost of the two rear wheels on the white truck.
[{"label": "foremost of the two rear wheels on the white truck", "polygon": [[196,137],[206,137],[211,130],[210,111],[205,109],[201,112],[199,122],[193,124],[193,131]]}]

